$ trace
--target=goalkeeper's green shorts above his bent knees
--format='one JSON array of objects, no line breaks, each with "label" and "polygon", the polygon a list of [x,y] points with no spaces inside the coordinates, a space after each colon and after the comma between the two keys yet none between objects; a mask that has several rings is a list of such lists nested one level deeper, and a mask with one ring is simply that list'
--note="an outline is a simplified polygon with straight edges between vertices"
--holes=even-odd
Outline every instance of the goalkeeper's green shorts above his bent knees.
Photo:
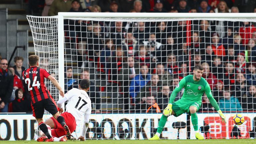
[{"label": "goalkeeper's green shorts above his bent knees", "polygon": [[195,106],[197,108],[197,111],[199,110],[201,106],[201,102],[191,101],[191,102],[185,102],[183,100],[178,100],[174,103],[172,103],[172,110],[175,112],[175,117],[178,117],[182,115],[183,113],[189,113],[189,107]]}]

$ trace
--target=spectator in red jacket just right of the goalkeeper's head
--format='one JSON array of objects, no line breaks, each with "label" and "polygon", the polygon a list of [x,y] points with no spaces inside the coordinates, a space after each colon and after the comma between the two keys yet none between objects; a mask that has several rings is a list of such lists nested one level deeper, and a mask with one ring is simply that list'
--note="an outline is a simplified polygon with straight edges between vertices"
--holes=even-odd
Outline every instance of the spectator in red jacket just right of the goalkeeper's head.
[{"label": "spectator in red jacket just right of the goalkeeper's head", "polygon": [[204,62],[201,65],[204,68],[202,77],[205,78],[205,80],[209,83],[211,90],[216,89],[218,83],[217,77],[210,72],[210,67],[208,63]]}]

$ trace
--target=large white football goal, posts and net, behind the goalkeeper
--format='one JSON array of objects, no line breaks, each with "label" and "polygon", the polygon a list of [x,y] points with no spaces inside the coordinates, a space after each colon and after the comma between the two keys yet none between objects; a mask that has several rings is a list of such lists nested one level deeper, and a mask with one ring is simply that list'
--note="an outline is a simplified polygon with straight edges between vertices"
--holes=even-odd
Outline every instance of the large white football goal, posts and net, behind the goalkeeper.
[{"label": "large white football goal, posts and net, behind the goalkeeper", "polygon": [[[83,78],[91,81],[93,111],[86,138],[152,137],[173,89],[201,64],[202,77],[228,122],[221,122],[204,94],[200,132],[207,139],[230,139],[255,137],[256,19],[250,16],[59,13],[27,18],[40,66],[65,92],[78,88]],[[50,83],[48,88],[57,101],[56,88]],[[238,129],[234,114],[245,118]],[[194,139],[190,115],[170,116],[160,138]]]}]

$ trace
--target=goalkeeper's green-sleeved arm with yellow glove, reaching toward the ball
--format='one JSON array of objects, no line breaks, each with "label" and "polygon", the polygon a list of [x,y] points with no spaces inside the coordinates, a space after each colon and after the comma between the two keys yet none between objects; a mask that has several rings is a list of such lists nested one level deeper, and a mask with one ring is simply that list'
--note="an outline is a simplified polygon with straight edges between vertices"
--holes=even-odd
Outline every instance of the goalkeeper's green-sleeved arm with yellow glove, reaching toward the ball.
[{"label": "goalkeeper's green-sleeved arm with yellow glove, reaching toward the ball", "polygon": [[218,112],[218,114],[220,115],[222,121],[224,121],[225,123],[227,123],[226,117],[225,115],[222,113],[222,111],[220,110],[218,103],[216,102],[216,100],[213,98],[212,96],[212,92],[211,92],[211,88],[209,86],[209,84],[207,83],[206,87],[205,87],[205,94],[207,96],[207,98],[209,99],[210,103],[212,104],[212,106],[215,108],[215,110]]}]

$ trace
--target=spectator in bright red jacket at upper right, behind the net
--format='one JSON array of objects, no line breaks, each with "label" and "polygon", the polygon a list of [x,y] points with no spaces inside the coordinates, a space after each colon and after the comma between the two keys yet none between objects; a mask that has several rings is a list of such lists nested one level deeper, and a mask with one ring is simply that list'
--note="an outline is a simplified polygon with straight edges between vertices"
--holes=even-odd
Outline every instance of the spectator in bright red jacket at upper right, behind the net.
[{"label": "spectator in bright red jacket at upper right, behind the net", "polygon": [[252,33],[256,31],[256,28],[250,22],[243,22],[243,26],[239,29],[239,34],[242,37],[242,44],[248,44],[249,39],[252,38]]}]

